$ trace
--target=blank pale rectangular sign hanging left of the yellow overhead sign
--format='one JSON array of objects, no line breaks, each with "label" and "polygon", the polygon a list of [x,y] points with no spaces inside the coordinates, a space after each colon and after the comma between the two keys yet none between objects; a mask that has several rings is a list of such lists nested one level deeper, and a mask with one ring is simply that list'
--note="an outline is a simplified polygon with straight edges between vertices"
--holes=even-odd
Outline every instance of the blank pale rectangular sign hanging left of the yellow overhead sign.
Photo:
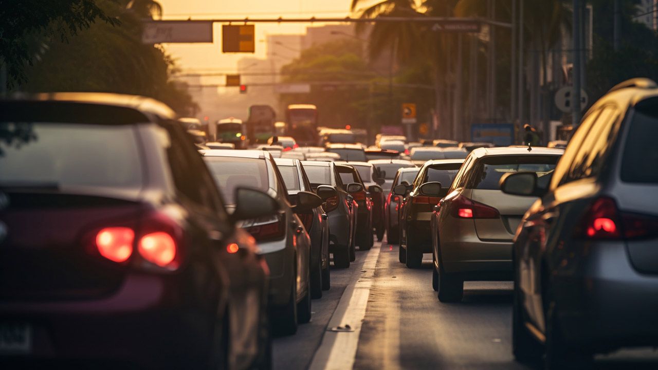
[{"label": "blank pale rectangular sign hanging left of the yellow overhead sign", "polygon": [[141,43],[213,42],[213,22],[153,20],[143,22]]}]

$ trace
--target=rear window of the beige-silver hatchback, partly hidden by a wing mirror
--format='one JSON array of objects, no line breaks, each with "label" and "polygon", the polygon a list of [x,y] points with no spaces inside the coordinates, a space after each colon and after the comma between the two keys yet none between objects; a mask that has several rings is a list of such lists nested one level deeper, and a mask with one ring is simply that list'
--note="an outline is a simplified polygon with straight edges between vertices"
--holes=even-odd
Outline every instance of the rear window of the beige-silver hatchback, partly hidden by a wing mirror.
[{"label": "rear window of the beige-silver hatchback, partly hidden by a wing mirror", "polygon": [[484,157],[473,167],[468,188],[499,190],[500,178],[509,172],[536,172],[538,186],[545,188],[551,180],[559,155],[497,155]]}]

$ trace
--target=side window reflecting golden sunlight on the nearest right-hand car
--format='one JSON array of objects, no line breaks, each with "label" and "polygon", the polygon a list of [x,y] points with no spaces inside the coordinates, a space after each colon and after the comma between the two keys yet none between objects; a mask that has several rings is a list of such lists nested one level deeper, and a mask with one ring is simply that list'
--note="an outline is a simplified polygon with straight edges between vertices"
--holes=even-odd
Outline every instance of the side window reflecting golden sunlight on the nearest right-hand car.
[{"label": "side window reflecting golden sunlight on the nearest right-hand car", "polygon": [[[569,172],[570,180],[598,176],[619,130],[619,111],[613,105],[603,107],[585,138]],[[581,155],[582,152],[582,155]]]}]

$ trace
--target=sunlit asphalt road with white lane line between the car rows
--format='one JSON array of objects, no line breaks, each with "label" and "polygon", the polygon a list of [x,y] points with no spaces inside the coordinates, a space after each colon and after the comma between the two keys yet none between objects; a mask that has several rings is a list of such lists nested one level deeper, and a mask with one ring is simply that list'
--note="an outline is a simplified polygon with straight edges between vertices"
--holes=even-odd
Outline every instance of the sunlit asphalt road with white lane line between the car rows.
[{"label": "sunlit asphalt road with white lane line between the car rows", "polygon": [[[430,255],[422,269],[407,269],[397,261],[397,246],[374,248],[357,252],[349,269],[332,270],[332,289],[313,301],[311,323],[275,338],[274,369],[542,368],[512,357],[511,282],[467,282],[463,302],[442,304],[432,290]],[[368,256],[371,263],[365,263]],[[357,293],[367,296],[365,315],[352,297]],[[343,321],[355,330],[328,330]],[[597,356],[595,369],[658,369],[658,352]]]}]

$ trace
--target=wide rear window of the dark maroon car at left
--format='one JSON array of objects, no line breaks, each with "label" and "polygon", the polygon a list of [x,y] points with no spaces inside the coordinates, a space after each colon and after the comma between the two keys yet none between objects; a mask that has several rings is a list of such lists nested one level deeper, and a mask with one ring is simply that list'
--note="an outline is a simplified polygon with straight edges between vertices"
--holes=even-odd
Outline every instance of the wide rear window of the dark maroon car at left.
[{"label": "wide rear window of the dark maroon car at left", "polygon": [[0,122],[0,185],[141,188],[134,126]]}]

